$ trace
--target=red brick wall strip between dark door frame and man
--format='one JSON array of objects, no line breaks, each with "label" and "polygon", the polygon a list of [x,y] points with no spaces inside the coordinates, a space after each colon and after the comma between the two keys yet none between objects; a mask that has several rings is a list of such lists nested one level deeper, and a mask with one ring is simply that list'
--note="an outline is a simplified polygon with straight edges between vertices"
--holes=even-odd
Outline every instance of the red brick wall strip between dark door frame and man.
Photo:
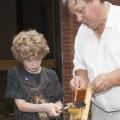
[{"label": "red brick wall strip between dark door frame and man", "polygon": [[[78,23],[75,16],[71,16],[67,6],[61,3],[61,42],[63,54],[63,85],[64,85],[64,102],[73,100],[73,93],[69,88],[69,81],[72,78],[73,56],[74,56],[74,37],[78,29]],[[68,120],[69,114],[65,114],[65,120]]]}]

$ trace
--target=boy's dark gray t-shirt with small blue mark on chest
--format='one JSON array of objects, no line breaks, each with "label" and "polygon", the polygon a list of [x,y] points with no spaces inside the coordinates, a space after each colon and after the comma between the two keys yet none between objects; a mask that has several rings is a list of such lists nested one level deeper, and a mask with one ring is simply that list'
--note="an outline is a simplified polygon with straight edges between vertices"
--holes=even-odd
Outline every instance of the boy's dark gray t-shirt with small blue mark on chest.
[{"label": "boy's dark gray t-shirt with small blue mark on chest", "polygon": [[[38,86],[40,90],[36,92]],[[5,93],[7,98],[23,99],[34,103],[33,96],[41,94],[47,102],[54,103],[63,99],[63,87],[55,71],[42,67],[39,74],[31,74],[22,65],[8,70]],[[40,120],[37,113],[21,112],[16,105],[14,112],[15,120]]]}]

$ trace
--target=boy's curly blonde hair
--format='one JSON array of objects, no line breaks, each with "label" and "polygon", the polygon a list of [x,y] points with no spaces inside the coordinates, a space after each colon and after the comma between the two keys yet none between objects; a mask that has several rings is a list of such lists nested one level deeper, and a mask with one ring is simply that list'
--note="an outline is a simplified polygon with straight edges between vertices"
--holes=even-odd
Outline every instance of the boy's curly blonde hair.
[{"label": "boy's curly blonde hair", "polygon": [[44,58],[49,53],[49,47],[42,33],[28,30],[14,37],[11,51],[16,60],[22,61],[30,57]]}]

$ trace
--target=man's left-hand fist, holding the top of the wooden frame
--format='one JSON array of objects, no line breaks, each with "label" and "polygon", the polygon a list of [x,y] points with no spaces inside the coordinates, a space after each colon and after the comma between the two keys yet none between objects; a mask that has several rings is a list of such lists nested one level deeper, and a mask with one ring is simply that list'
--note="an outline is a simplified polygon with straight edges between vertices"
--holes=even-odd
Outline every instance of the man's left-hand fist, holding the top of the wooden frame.
[{"label": "man's left-hand fist, holding the top of the wooden frame", "polygon": [[75,91],[77,88],[86,89],[88,81],[79,76],[74,76],[70,81],[70,88]]}]

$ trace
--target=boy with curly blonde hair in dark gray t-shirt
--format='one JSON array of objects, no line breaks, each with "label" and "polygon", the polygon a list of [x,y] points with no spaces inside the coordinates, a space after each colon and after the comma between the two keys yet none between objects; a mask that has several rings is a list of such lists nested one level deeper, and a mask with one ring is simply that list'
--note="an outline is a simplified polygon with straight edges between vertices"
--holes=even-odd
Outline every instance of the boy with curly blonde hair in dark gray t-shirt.
[{"label": "boy with curly blonde hair in dark gray t-shirt", "polygon": [[49,52],[43,34],[22,31],[14,37],[11,50],[21,62],[7,74],[6,97],[15,101],[15,120],[58,119],[63,88],[55,71],[41,66]]}]

